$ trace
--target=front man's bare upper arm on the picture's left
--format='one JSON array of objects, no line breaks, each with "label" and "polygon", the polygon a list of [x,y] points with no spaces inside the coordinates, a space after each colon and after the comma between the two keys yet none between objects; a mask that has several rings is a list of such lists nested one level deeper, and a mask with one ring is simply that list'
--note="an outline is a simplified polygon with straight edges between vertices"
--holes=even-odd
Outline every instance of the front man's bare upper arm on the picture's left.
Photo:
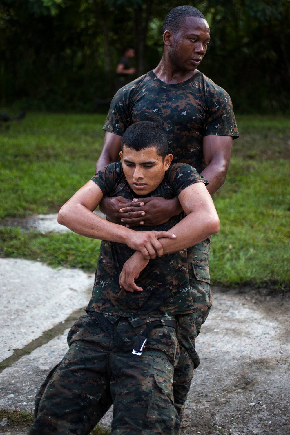
[{"label": "front man's bare upper arm on the picture's left", "polygon": [[94,211],[103,198],[100,187],[92,180],[88,181],[67,201],[70,205],[83,205],[90,211]]}]

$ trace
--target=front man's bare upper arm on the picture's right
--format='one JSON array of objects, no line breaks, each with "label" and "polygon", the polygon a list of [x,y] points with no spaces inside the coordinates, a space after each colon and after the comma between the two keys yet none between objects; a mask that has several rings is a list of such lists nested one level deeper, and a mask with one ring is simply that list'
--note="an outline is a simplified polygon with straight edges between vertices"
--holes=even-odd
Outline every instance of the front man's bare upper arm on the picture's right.
[{"label": "front man's bare upper arm on the picture's right", "polygon": [[198,182],[190,184],[190,186],[183,189],[178,195],[178,199],[185,214],[199,213],[206,211],[211,213],[215,211],[213,200],[207,191],[204,183]]}]

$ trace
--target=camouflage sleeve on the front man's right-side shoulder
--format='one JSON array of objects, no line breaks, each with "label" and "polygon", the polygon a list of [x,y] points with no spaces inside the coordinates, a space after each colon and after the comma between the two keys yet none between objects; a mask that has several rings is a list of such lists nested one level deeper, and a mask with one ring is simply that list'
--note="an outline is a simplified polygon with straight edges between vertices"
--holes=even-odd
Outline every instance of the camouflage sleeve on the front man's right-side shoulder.
[{"label": "camouflage sleeve on the front man's right-side shoulder", "polygon": [[206,186],[209,184],[207,179],[200,175],[195,167],[186,163],[175,163],[169,167],[168,171],[170,186],[177,196],[191,184],[204,183]]}]

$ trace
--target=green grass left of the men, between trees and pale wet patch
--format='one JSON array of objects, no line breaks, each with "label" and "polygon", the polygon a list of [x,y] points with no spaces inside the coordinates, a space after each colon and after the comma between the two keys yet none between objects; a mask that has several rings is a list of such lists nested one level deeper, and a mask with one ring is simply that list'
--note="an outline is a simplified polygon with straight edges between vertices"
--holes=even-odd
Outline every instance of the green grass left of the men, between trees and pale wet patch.
[{"label": "green grass left of the men, between trees and pale wet patch", "polygon": [[31,113],[0,128],[0,219],[57,211],[95,173],[104,115]]}]

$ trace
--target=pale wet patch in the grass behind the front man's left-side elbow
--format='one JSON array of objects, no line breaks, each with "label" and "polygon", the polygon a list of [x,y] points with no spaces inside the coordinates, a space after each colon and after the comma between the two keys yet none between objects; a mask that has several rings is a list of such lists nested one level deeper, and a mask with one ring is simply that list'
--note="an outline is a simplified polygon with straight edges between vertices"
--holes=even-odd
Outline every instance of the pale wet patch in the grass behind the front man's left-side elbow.
[{"label": "pale wet patch in the grass behind the front man's left-side elbow", "polygon": [[[100,218],[106,219],[106,216],[99,210],[94,211]],[[0,222],[0,227],[20,227],[23,230],[35,230],[41,233],[55,231],[65,233],[70,231],[67,227],[57,223],[57,213],[37,214],[25,218],[5,218]]]}]

